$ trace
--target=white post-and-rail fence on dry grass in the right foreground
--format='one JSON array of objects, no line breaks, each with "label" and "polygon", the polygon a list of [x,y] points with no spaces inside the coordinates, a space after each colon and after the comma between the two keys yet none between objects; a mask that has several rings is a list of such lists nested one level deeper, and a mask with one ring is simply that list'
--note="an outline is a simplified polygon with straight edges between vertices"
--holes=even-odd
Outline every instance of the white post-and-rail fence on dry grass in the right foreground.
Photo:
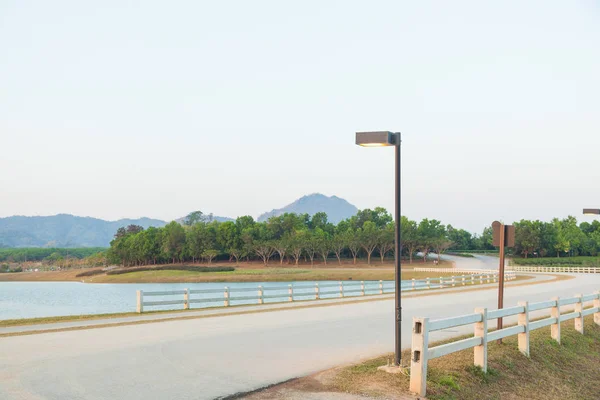
[{"label": "white post-and-rail fence on dry grass in the right foreground", "polygon": [[[592,302],[590,308],[586,308]],[[574,310],[561,314],[561,307],[573,305]],[[529,313],[539,310],[550,310],[550,318],[536,321],[529,320]],[[430,320],[429,318],[413,318],[413,336],[411,349],[410,390],[425,396],[427,390],[427,363],[434,358],[470,348],[475,349],[474,364],[487,372],[488,343],[508,336],[518,336],[521,353],[529,357],[529,333],[536,329],[550,326],[552,339],[560,344],[560,323],[575,320],[575,329],[583,333],[583,318],[594,315],[594,322],[600,325],[600,291],[590,295],[577,295],[571,298],[555,297],[539,303],[519,302],[516,307],[488,311],[487,308],[476,308],[474,314],[453,318]],[[516,315],[518,325],[488,332],[487,321],[500,317]],[[436,347],[429,347],[429,334],[442,329],[455,328],[474,324],[474,336]]]}]

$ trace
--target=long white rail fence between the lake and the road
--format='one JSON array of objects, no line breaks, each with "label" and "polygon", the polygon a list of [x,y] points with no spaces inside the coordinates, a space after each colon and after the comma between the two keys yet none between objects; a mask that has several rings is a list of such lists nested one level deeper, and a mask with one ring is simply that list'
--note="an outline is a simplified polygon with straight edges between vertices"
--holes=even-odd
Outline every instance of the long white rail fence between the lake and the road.
[{"label": "long white rail fence between the lake and the road", "polygon": [[[514,272],[507,272],[505,280],[515,279]],[[400,289],[404,291],[443,289],[455,286],[477,285],[498,281],[498,274],[479,274],[447,276],[439,278],[412,279],[402,281]],[[146,307],[182,305],[184,310],[190,304],[198,304],[198,308],[206,308],[223,303],[223,306],[241,304],[265,304],[276,302],[292,302],[296,300],[320,300],[341,297],[356,297],[366,295],[380,295],[395,292],[393,281],[345,281],[331,283],[298,284],[287,286],[258,286],[257,288],[229,288],[223,289],[181,289],[161,292],[137,291],[138,313],[144,312]],[[250,295],[248,293],[251,293]],[[193,295],[198,295],[194,297]],[[156,301],[146,301],[145,297],[159,297]],[[170,299],[177,296],[177,299]]]}]

